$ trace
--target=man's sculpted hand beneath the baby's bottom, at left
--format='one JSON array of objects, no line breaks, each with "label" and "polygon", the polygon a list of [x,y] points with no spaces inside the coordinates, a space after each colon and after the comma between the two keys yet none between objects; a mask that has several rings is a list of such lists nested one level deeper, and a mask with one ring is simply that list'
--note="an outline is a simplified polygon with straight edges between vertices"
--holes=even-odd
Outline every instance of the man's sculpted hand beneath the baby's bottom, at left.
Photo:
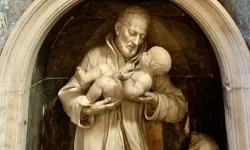
[{"label": "man's sculpted hand beneath the baby's bottom, at left", "polygon": [[111,102],[111,98],[106,98],[101,101],[96,101],[94,104],[88,107],[82,108],[82,113],[84,115],[96,115],[103,113],[106,110],[114,109],[121,103],[120,101]]}]

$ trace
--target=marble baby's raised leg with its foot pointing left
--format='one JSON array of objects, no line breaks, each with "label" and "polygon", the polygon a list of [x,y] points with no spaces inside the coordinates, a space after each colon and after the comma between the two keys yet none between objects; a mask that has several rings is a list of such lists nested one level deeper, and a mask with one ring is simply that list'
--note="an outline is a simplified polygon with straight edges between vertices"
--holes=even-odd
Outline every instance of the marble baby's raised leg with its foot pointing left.
[{"label": "marble baby's raised leg with its foot pointing left", "polygon": [[112,76],[113,72],[113,69],[107,64],[100,64],[91,68],[88,72],[85,72],[82,68],[77,67],[76,77],[80,85],[85,85],[93,82],[101,76]]}]

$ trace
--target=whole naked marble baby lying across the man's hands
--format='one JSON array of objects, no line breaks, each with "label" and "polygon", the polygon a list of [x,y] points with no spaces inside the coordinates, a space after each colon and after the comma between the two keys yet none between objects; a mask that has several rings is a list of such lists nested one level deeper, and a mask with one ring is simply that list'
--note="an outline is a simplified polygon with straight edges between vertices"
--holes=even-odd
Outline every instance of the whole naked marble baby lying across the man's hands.
[{"label": "whole naked marble baby lying across the man's hands", "polygon": [[[76,77],[81,85],[95,80],[86,94],[91,103],[102,95],[112,101],[135,99],[150,90],[154,76],[164,75],[170,70],[171,57],[162,47],[154,46],[142,54],[139,65],[139,71],[120,73],[119,76],[107,64],[98,65],[88,72],[78,67]],[[117,78],[122,80],[121,85]]]}]

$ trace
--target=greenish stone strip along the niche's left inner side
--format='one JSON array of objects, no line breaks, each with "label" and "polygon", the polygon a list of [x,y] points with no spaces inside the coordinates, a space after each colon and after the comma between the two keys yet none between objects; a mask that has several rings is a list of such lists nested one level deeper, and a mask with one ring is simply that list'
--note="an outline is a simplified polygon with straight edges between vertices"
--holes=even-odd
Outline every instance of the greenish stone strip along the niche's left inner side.
[{"label": "greenish stone strip along the niche's left inner side", "polygon": [[40,50],[33,70],[29,96],[26,150],[38,150],[41,145],[46,54],[42,49]]}]

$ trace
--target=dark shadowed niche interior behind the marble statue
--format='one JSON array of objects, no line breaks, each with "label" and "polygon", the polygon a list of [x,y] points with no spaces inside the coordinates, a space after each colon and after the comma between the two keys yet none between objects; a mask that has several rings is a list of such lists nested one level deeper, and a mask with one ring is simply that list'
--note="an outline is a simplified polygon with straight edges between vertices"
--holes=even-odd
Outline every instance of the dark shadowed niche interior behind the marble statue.
[{"label": "dark shadowed niche interior behind the marble statue", "polygon": [[[72,149],[75,125],[57,93],[75,73],[86,52],[105,42],[121,10],[139,4],[152,15],[149,46],[162,46],[173,64],[169,76],[189,103],[191,131],[213,137],[227,148],[220,70],[200,27],[183,10],[166,1],[84,1],[72,8],[46,37],[33,70],[26,149]],[[178,124],[147,123],[149,149],[185,150],[184,118]],[[153,148],[154,147],[154,148]]]}]

